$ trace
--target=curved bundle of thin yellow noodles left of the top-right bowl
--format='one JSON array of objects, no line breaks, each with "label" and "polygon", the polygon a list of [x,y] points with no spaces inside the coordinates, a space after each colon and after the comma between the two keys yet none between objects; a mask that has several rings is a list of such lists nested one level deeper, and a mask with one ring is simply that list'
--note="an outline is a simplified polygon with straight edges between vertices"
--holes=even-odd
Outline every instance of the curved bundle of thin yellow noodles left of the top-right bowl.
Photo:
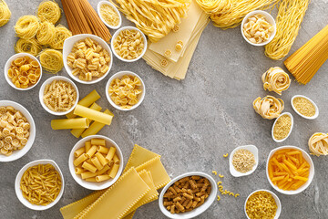
[{"label": "curved bundle of thin yellow noodles left of the top-right bowl", "polygon": [[234,28],[241,24],[244,16],[257,9],[268,9],[278,3],[279,0],[232,0],[231,10],[226,13],[210,16],[214,26],[222,29]]}]

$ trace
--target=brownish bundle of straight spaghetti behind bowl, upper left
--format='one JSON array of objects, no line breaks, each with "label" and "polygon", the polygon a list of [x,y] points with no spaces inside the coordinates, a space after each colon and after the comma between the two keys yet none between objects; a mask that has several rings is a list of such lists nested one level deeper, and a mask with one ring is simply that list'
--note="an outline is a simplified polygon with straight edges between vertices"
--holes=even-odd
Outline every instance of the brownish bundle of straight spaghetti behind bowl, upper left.
[{"label": "brownish bundle of straight spaghetti behind bowl, upper left", "polygon": [[109,42],[111,35],[108,27],[87,0],[62,0],[62,4],[73,35],[94,34]]}]

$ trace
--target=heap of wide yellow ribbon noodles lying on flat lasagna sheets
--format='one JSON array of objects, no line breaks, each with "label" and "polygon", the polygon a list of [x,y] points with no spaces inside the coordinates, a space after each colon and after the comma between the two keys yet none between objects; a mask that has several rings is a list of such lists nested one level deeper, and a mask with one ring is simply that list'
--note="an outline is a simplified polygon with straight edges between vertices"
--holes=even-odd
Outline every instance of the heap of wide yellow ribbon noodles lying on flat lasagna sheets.
[{"label": "heap of wide yellow ribbon noodles lying on flat lasagna sheets", "polygon": [[186,16],[190,0],[117,0],[119,10],[152,42],[167,36]]}]

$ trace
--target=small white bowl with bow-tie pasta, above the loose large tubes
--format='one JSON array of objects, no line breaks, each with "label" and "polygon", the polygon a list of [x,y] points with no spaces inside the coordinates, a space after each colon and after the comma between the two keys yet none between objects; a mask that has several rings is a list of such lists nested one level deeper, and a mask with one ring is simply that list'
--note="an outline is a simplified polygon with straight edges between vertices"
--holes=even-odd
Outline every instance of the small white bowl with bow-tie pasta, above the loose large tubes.
[{"label": "small white bowl with bow-tie pasta, above the loose large tubes", "polygon": [[137,74],[120,71],[109,78],[106,86],[106,97],[109,103],[118,110],[133,110],[145,98],[145,84]]}]

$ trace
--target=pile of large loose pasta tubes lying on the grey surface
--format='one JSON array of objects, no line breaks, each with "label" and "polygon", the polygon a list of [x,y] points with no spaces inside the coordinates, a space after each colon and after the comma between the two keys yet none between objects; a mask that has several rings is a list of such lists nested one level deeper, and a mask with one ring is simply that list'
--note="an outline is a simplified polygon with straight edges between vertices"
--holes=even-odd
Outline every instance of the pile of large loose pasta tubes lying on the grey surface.
[{"label": "pile of large loose pasta tubes lying on the grey surface", "polygon": [[77,107],[66,115],[67,119],[51,120],[51,128],[71,130],[71,134],[76,138],[97,134],[105,125],[109,126],[114,117],[108,109],[101,112],[102,108],[97,105],[97,99],[100,99],[100,95],[94,89],[77,102]]}]

